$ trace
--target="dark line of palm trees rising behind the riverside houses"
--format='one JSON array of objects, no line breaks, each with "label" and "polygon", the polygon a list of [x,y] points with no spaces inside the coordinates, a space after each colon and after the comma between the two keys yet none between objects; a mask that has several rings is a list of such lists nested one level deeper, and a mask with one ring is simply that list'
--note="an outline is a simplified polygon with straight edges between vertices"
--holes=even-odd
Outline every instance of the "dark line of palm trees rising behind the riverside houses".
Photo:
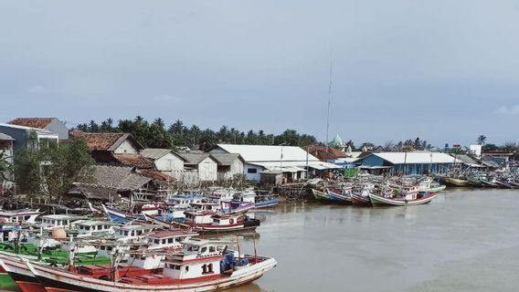
[{"label": "dark line of palm trees rising behind the riverside houses", "polygon": [[249,130],[247,132],[228,126],[221,126],[219,130],[202,130],[196,125],[186,126],[182,120],[176,120],[166,126],[163,119],[152,122],[137,116],[133,120],[113,119],[102,120],[101,123],[90,120],[89,123],[79,124],[75,130],[85,132],[128,132],[147,148],[176,149],[188,147],[193,150],[206,151],[218,143],[251,144],[251,145],[279,145],[284,143],[290,146],[307,146],[316,144],[317,139],[308,134],[298,133],[287,129],[281,134],[265,133],[264,130]]}]

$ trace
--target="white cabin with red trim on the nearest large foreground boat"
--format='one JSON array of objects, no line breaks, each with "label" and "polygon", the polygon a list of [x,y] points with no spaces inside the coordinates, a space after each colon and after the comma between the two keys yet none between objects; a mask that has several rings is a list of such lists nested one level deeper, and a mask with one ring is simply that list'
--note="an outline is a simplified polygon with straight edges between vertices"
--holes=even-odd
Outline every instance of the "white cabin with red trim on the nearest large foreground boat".
[{"label": "white cabin with red trim on the nearest large foreground boat", "polygon": [[184,242],[184,250],[166,257],[164,276],[175,279],[220,277],[220,262],[224,259],[227,243],[205,239],[190,239]]}]

